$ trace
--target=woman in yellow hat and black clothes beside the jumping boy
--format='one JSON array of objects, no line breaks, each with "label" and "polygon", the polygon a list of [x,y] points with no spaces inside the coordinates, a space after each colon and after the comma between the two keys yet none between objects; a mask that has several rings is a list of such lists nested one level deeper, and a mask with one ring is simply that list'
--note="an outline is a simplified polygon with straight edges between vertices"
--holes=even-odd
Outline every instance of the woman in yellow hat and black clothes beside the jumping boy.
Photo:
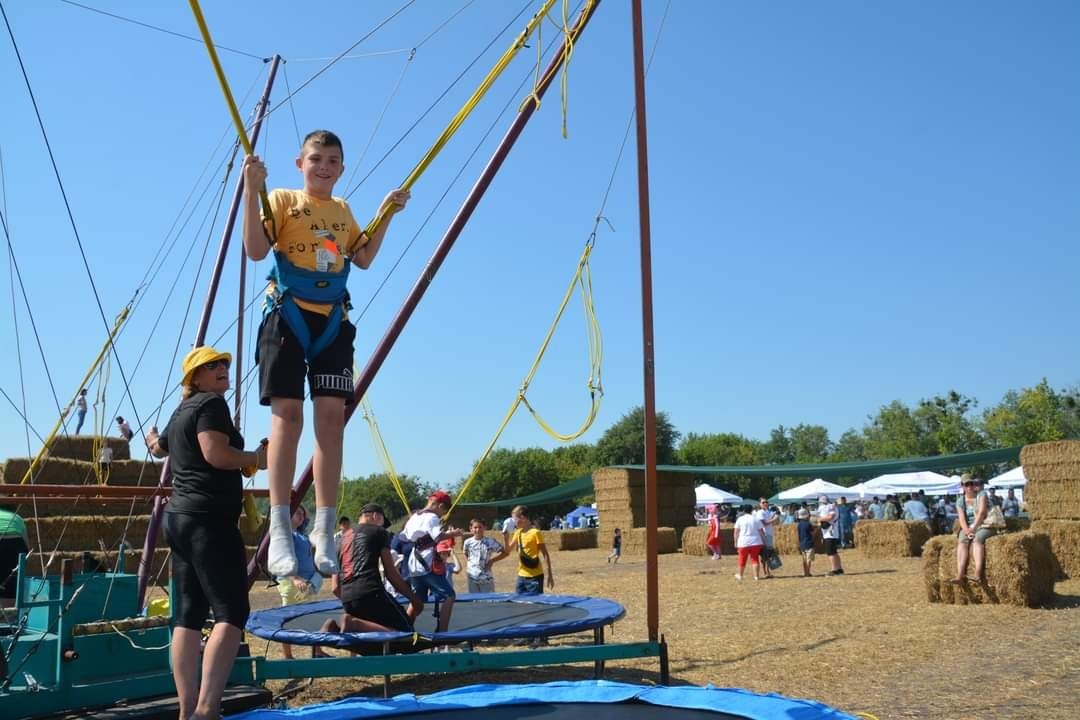
[{"label": "woman in yellow hat and black clothes beside the jumping boy", "polygon": [[[243,504],[241,468],[267,466],[266,446],[244,450],[225,393],[229,353],[202,345],[184,358],[181,399],[160,434],[151,427],[147,446],[168,456],[173,495],[165,512],[172,548],[173,678],[180,718],[216,718],[251,610],[244,541],[237,521]],[[200,652],[211,608],[214,630]],[[200,664],[202,681],[200,682]]]}]

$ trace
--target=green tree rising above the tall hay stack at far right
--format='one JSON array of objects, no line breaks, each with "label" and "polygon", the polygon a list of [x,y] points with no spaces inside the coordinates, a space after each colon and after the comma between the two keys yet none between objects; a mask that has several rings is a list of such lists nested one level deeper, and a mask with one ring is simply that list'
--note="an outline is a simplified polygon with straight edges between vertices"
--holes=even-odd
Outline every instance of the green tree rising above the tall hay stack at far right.
[{"label": "green tree rising above the tall hay stack at far right", "polygon": [[983,413],[982,425],[995,447],[1080,437],[1080,392],[1055,392],[1043,378],[1035,388],[1005,393]]}]

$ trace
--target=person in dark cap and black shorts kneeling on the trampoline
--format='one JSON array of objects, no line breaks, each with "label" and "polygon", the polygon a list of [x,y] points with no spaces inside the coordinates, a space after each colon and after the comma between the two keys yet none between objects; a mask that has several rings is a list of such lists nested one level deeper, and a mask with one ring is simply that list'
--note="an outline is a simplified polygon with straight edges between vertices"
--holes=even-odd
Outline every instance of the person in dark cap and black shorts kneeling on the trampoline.
[{"label": "person in dark cap and black shorts kneeling on the trampoline", "polygon": [[[345,614],[341,624],[323,624],[325,633],[411,633],[413,622],[423,610],[423,602],[402,580],[390,555],[390,522],[382,507],[367,503],[360,508],[360,521],[341,534],[338,556],[340,574],[334,575],[334,594],[341,598]],[[408,600],[402,609],[382,585],[379,561],[390,584]]]}]

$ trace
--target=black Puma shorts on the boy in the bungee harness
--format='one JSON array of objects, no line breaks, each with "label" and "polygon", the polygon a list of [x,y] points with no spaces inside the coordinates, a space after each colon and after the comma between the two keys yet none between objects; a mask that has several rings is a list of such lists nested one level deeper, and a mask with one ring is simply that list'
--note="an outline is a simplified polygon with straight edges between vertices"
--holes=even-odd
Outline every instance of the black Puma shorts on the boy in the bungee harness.
[{"label": "black Puma shorts on the boy in the bungee harness", "polygon": [[[300,310],[312,339],[322,335],[327,317],[316,312]],[[311,396],[343,397],[352,403],[352,342],[356,327],[348,320],[334,341],[309,365],[303,349],[293,330],[274,310],[259,326],[257,363],[259,364],[259,402],[270,405],[272,397],[303,399],[303,379],[307,376]]]}]

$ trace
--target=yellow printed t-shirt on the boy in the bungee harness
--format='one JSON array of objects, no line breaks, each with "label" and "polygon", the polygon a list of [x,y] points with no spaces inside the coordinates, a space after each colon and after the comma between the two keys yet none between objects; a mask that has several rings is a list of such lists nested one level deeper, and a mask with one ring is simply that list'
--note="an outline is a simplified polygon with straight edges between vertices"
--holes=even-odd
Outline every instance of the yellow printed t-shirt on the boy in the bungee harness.
[{"label": "yellow printed t-shirt on the boy in the bungee harness", "polygon": [[[339,272],[352,255],[367,243],[364,228],[356,222],[349,203],[340,198],[320,200],[303,190],[278,188],[270,192],[270,209],[278,230],[273,249],[284,253],[297,268]],[[264,218],[267,235],[270,222]],[[273,293],[273,282],[267,295]],[[329,315],[333,305],[296,300],[303,310]]]}]

